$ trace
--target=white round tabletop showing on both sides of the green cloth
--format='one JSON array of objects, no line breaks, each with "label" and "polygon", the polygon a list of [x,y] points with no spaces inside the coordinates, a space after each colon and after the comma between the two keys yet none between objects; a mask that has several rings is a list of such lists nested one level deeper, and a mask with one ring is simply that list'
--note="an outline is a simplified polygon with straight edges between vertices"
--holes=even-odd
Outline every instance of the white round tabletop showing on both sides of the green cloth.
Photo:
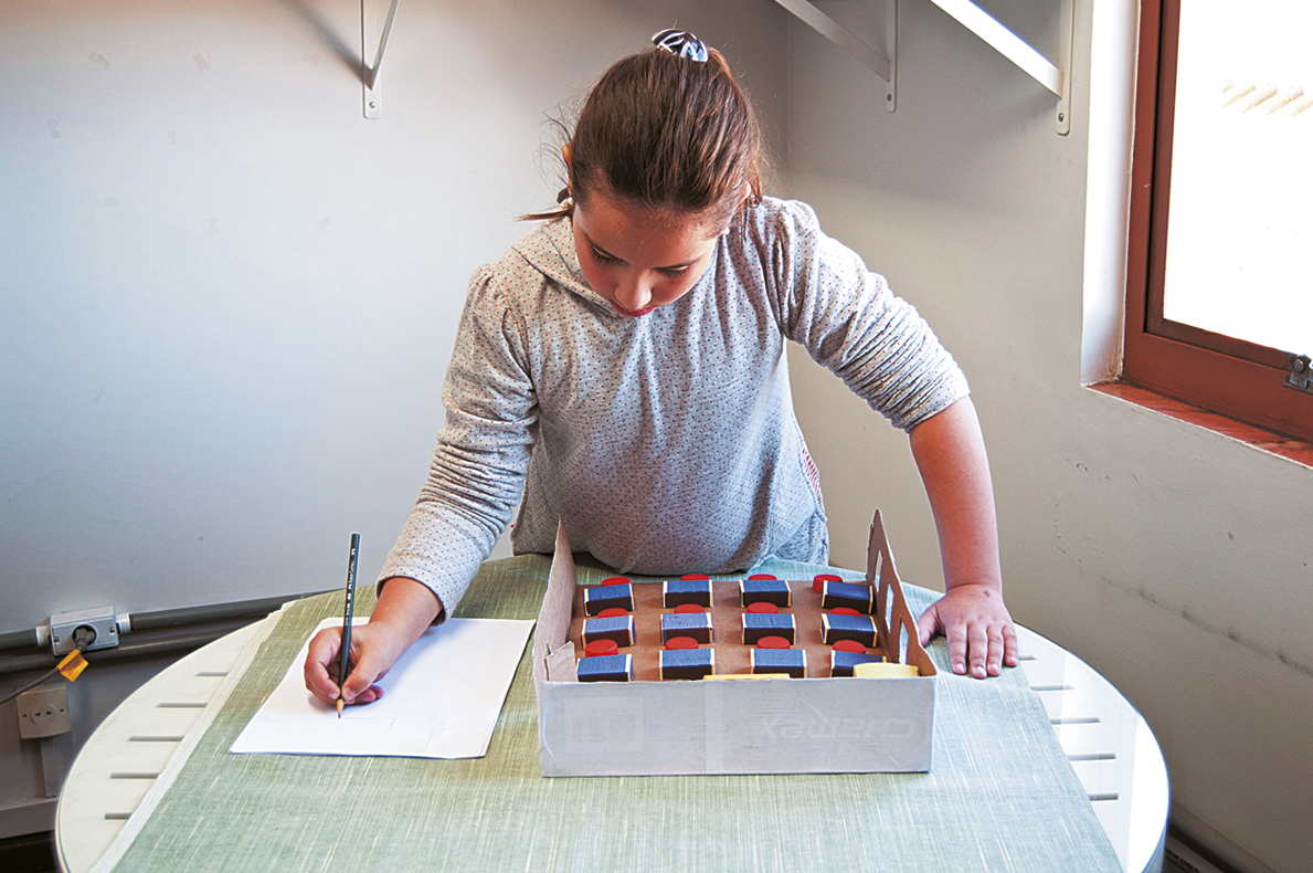
[{"label": "white round tabletop showing on both sides of the green cloth", "polygon": [[[140,803],[228,671],[276,615],[180,659],[125,699],[83,745],[59,794],[55,847],[89,870]],[[1090,795],[1123,869],[1162,869],[1167,770],[1149,726],[1088,664],[1018,626],[1020,668]]]}]

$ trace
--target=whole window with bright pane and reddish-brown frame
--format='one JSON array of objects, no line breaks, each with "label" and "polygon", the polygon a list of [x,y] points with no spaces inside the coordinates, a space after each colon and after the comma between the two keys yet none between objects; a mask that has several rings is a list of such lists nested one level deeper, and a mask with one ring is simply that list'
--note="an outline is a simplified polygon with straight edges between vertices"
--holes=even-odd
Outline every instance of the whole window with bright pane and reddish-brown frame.
[{"label": "whole window with bright pane and reddish-brown frame", "polygon": [[[1313,442],[1306,0],[1144,0],[1123,379]],[[1296,364],[1299,367],[1299,364]],[[1306,367],[1306,364],[1305,364]]]}]

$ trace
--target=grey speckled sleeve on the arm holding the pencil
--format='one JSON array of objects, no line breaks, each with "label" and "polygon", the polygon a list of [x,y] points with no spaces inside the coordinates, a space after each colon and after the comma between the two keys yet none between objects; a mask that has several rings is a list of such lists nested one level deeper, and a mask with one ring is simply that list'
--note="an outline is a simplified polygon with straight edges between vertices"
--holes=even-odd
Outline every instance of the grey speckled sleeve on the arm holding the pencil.
[{"label": "grey speckled sleeve on the arm holding the pencil", "polygon": [[379,582],[407,576],[449,614],[511,521],[537,431],[520,313],[482,268],[470,280],[442,384],[446,419],[419,500]]}]

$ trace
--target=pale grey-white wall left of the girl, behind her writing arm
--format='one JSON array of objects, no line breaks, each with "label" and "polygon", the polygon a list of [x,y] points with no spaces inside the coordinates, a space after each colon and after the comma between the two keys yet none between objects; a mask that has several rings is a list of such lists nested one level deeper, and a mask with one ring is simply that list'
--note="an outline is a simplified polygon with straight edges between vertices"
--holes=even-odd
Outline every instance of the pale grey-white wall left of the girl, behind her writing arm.
[{"label": "pale grey-white wall left of the girl, behind her writing arm", "polygon": [[[369,578],[548,114],[676,22],[783,137],[763,0],[402,0],[377,121],[357,0],[0,4],[0,632],[335,588],[352,530]],[[85,673],[74,740],[159,667]],[[8,713],[0,836],[42,789]]]}]

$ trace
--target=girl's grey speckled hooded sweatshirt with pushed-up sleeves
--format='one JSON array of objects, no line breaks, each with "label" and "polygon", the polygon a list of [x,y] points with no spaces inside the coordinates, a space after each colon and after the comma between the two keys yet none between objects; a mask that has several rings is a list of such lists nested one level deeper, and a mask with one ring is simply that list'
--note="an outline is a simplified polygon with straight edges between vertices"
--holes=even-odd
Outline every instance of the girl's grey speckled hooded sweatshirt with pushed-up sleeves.
[{"label": "girl's grey speckled hooded sweatshirt with pushed-up sleeves", "polygon": [[450,613],[521,488],[516,554],[550,554],[563,519],[575,551],[622,573],[826,563],[785,339],[905,430],[968,393],[915,309],[805,204],[750,208],[687,295],[638,318],[588,288],[569,218],[540,225],[470,280],[446,421],[379,580],[415,578]]}]

